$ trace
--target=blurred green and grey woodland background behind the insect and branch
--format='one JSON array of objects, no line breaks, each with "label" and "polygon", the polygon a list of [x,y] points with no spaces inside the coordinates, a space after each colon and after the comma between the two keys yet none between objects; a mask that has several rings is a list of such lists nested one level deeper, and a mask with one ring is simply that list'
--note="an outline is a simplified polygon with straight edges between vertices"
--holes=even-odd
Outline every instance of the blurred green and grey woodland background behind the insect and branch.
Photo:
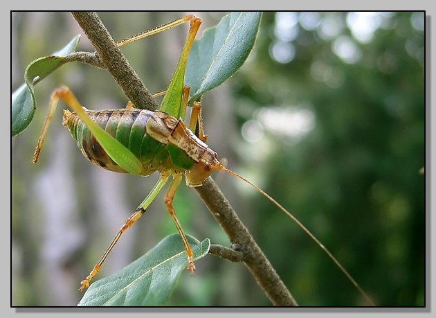
[{"label": "blurred green and grey woodland background behind the insect and branch", "polygon": [[[116,41],[190,12],[101,12]],[[199,37],[227,12],[195,12]],[[266,12],[242,69],[203,99],[208,145],[228,168],[296,216],[378,306],[424,306],[426,211],[424,12]],[[122,48],[150,91],[165,89],[188,26]],[[12,12],[12,89],[33,60],[82,34],[68,12]],[[37,111],[12,139],[12,306],[76,306],[80,281],[158,179],[100,169],[55,114],[33,152],[53,89],[89,109],[125,107],[107,71],[67,64],[35,89]],[[160,100],[159,100],[160,101]],[[66,108],[66,106],[62,105]],[[338,267],[286,215],[243,182],[213,175],[300,306],[363,306]],[[111,252],[101,279],[176,228],[156,199]],[[228,246],[224,231],[182,184],[175,209],[186,233]],[[215,256],[183,273],[168,306],[271,306],[242,264]]]}]

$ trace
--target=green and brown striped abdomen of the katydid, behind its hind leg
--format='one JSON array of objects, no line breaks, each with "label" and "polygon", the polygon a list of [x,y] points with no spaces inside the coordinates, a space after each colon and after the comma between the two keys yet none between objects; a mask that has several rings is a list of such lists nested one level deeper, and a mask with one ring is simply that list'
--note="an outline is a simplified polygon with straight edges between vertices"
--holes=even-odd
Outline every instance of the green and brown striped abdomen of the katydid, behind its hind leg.
[{"label": "green and brown striped abdomen of the katydid, behind its hind leg", "polygon": [[[140,175],[173,168],[166,145],[147,134],[147,121],[154,116],[154,112],[131,108],[87,110],[87,115],[141,161],[143,171]],[[65,110],[63,124],[69,128],[71,136],[89,161],[113,172],[127,173],[109,157],[75,113]]]}]

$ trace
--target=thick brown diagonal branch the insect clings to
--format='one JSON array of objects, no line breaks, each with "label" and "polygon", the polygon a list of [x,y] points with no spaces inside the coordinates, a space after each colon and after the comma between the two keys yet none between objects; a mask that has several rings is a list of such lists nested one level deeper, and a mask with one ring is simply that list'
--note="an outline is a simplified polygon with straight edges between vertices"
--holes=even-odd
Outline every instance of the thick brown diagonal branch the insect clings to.
[{"label": "thick brown diagonal branch the insect clings to", "polygon": [[[138,108],[158,109],[158,105],[116,47],[98,15],[95,12],[72,12],[72,14],[96,48],[102,66],[111,73],[131,102]],[[203,186],[195,189],[234,246],[233,249],[213,246],[213,254],[232,261],[242,259],[273,305],[298,306],[212,178],[209,177]]]}]

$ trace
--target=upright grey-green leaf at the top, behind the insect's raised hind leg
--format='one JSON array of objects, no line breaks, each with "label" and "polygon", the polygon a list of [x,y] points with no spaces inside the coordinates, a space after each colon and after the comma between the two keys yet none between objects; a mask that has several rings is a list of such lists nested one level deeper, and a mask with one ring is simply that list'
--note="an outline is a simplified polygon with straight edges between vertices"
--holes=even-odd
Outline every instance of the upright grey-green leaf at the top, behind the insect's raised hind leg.
[{"label": "upright grey-green leaf at the top, behind the insect's raised hind leg", "polygon": [[233,12],[203,32],[192,45],[185,71],[185,85],[198,100],[221,85],[244,64],[255,44],[262,12]]}]

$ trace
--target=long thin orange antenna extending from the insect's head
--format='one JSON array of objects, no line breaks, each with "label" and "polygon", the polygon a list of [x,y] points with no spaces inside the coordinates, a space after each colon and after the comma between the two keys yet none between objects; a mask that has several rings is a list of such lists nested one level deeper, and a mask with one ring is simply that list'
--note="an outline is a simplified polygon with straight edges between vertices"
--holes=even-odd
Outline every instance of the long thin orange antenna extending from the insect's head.
[{"label": "long thin orange antenna extending from the insect's head", "polygon": [[252,182],[248,181],[247,179],[245,179],[244,177],[242,177],[242,175],[238,175],[237,173],[234,173],[232,170],[228,170],[226,167],[222,166],[221,164],[219,164],[219,170],[222,170],[230,175],[233,175],[239,179],[241,179],[242,181],[246,182],[247,184],[250,184],[253,188],[255,188],[259,193],[261,193],[262,195],[264,195],[264,197],[266,197],[266,199],[270,200],[271,202],[273,202],[273,204],[275,204],[275,206],[277,206],[280,210],[282,210],[284,213],[286,213],[289,218],[291,218],[291,220],[293,220],[293,222],[295,222],[298,227],[300,227],[300,229],[302,229],[303,231],[305,231],[305,233],[312,239],[314,240],[314,242],[316,242],[316,244],[321,247],[321,249],[323,249],[323,251],[325,251],[325,253],[327,254],[327,256],[329,256],[329,258],[331,258],[331,260],[333,260],[333,262],[336,264],[336,266],[339,267],[339,269],[345,274],[345,276],[347,276],[347,278],[349,279],[349,281],[352,282],[352,284],[354,285],[354,287],[357,288],[357,290],[361,293],[361,295],[367,300],[368,303],[371,304],[371,306],[375,306],[374,302],[372,301],[372,299],[370,299],[370,297],[363,291],[363,289],[361,288],[360,285],[358,285],[358,283],[353,279],[353,277],[349,274],[349,272],[347,272],[347,270],[345,270],[345,268],[343,267],[343,265],[341,265],[339,263],[339,261],[336,259],[336,257],[333,256],[333,254],[330,253],[330,251],[323,245],[323,243],[321,243],[318,238],[316,238],[314,236],[314,234],[312,234],[299,220],[297,220],[297,218],[295,216],[293,216],[289,211],[287,211],[287,209],[284,209],[284,207],[278,203],[277,201],[275,201],[273,199],[273,197],[271,197],[271,195],[269,195],[268,193],[266,193],[265,191],[263,191],[261,188],[259,188],[258,186],[256,186],[255,184],[253,184]]}]

